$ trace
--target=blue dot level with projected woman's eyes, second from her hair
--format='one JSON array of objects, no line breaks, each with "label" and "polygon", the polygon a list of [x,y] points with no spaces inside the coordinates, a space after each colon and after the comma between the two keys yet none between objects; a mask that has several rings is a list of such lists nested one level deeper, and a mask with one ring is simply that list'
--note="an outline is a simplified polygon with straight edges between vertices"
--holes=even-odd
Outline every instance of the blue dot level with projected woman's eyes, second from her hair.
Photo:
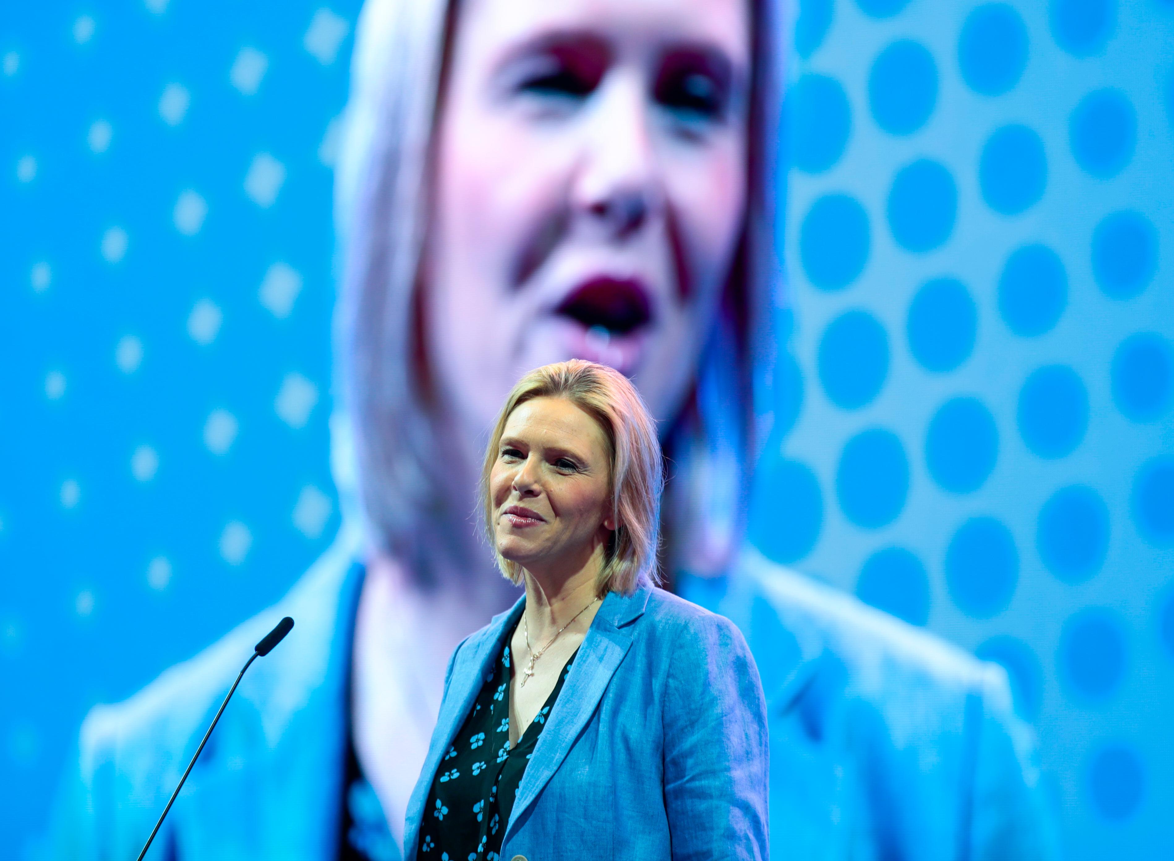
[{"label": "blue dot level with projected woman's eyes, second from her hair", "polygon": [[869,107],[890,135],[909,135],[925,124],[938,100],[938,69],[924,46],[909,39],[880,52],[869,73]]}]

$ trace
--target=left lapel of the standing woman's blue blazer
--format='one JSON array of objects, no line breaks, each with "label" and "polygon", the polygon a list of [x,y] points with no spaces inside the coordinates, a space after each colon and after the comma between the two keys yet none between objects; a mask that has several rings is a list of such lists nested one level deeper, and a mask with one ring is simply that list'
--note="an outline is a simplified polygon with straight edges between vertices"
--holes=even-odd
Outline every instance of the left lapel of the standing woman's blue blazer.
[{"label": "left lapel of the standing woman's blue blazer", "polygon": [[457,660],[448,678],[448,691],[440,704],[437,728],[432,732],[432,744],[429,746],[424,768],[407,802],[404,857],[416,857],[420,822],[427,813],[424,805],[429,800],[437,767],[460,732],[465,718],[468,717],[468,710],[473,707],[473,700],[485,684],[486,676],[492,672],[491,665],[501,652],[505,638],[518,624],[525,602],[525,596],[518,598],[511,609],[494,616],[485,629],[473,635],[457,652]]}]

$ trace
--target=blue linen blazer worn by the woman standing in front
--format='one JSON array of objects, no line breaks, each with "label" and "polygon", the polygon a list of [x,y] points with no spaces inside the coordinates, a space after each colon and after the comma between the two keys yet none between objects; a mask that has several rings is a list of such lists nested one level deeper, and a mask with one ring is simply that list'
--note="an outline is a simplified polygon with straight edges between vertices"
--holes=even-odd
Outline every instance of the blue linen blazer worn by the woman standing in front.
[{"label": "blue linen blazer worn by the woman standing in front", "polygon": [[[440,758],[525,598],[448,662],[440,717],[407,806],[417,855]],[[767,709],[728,619],[661,589],[603,599],[526,766],[501,857],[767,859]]]}]

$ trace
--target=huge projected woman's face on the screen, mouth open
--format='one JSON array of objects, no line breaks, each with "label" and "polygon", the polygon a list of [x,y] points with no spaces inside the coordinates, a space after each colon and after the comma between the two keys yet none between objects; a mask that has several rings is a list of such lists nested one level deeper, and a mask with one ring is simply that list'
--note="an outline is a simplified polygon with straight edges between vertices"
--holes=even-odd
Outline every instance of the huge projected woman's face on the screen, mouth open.
[{"label": "huge projected woman's face on the screen, mouth open", "polygon": [[471,441],[571,358],[680,409],[743,224],[749,26],[747,0],[461,4],[421,307]]}]

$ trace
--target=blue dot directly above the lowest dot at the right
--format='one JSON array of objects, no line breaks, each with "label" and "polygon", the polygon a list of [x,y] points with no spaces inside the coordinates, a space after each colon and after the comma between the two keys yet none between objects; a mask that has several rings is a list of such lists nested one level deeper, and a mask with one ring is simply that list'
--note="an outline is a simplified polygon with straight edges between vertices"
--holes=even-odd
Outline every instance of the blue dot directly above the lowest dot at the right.
[{"label": "blue dot directly above the lowest dot at the right", "polygon": [[1060,680],[1078,700],[1107,699],[1120,686],[1126,670],[1125,631],[1116,617],[1086,608],[1064,623],[1058,655]]}]

